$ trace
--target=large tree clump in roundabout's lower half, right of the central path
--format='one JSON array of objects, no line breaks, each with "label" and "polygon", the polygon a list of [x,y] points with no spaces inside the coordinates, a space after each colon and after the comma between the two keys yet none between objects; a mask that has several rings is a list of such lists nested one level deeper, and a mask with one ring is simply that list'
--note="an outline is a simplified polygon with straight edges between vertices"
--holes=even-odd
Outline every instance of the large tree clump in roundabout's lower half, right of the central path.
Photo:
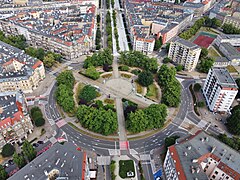
[{"label": "large tree clump in roundabout's lower half, right of the central path", "polygon": [[148,108],[130,112],[126,124],[127,129],[133,133],[161,128],[167,117],[167,106],[152,104]]}]

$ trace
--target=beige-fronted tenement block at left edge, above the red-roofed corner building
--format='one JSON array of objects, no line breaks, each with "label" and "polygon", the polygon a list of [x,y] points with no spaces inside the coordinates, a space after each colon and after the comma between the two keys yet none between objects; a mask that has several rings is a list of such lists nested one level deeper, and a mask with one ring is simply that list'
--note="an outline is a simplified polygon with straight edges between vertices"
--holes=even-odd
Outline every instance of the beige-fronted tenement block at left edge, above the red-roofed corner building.
[{"label": "beige-fronted tenement block at left edge, above the red-roofed corner building", "polygon": [[0,41],[0,92],[30,93],[45,78],[42,61]]}]

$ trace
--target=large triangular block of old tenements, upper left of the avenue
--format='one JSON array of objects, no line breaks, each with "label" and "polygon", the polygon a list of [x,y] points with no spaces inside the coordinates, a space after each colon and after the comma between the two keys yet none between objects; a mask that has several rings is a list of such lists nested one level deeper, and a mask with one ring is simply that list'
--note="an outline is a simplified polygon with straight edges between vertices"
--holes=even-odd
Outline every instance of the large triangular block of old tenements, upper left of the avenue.
[{"label": "large triangular block of old tenements, upper left of the avenue", "polygon": [[26,37],[30,45],[61,54],[67,60],[87,54],[94,48],[96,6],[43,6],[5,12],[0,30]]}]

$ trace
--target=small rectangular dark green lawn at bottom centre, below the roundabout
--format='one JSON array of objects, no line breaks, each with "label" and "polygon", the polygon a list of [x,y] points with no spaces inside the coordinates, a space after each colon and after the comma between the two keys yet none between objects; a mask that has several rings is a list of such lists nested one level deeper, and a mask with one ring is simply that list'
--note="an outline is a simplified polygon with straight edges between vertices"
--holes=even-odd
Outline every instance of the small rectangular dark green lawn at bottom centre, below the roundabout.
[{"label": "small rectangular dark green lawn at bottom centre, below the roundabout", "polygon": [[130,178],[127,176],[127,172],[133,172],[133,176],[135,177],[135,169],[133,160],[120,160],[119,161],[119,176],[121,178]]}]

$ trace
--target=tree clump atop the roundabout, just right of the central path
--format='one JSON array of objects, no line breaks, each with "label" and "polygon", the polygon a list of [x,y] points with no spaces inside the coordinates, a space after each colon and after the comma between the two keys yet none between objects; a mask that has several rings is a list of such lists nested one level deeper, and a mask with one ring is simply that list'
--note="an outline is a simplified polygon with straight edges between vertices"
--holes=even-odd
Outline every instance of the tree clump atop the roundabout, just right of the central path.
[{"label": "tree clump atop the roundabout, just right of the central path", "polygon": [[158,63],[156,58],[149,58],[139,51],[125,51],[120,53],[119,61],[131,67],[140,67],[146,71],[156,72]]}]

